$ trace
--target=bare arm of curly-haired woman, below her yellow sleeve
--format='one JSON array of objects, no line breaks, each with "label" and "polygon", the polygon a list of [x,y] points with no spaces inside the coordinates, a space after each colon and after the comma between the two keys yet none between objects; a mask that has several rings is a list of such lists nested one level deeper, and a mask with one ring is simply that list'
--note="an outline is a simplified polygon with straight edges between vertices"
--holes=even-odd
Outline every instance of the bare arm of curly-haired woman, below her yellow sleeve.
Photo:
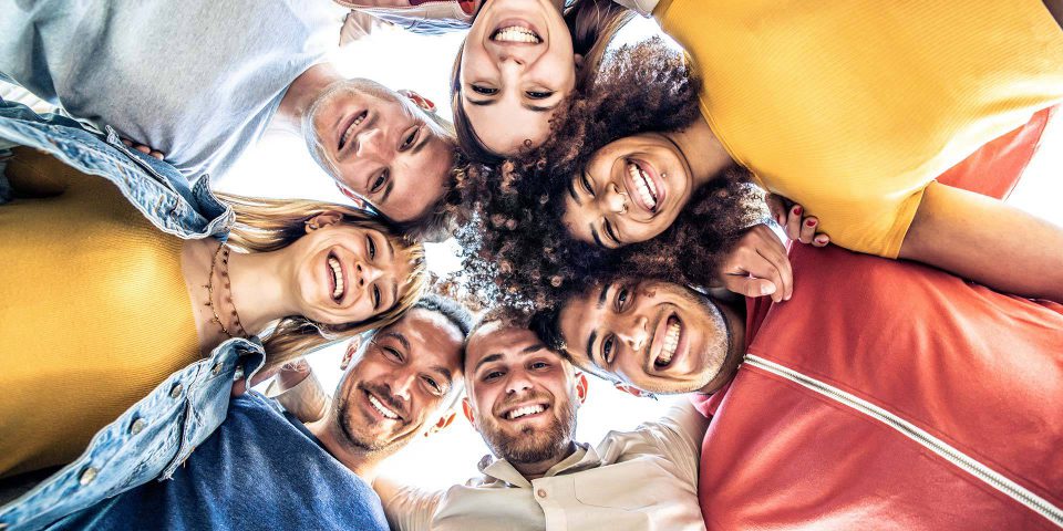
[{"label": "bare arm of curly-haired woman, below her yellow sleeve", "polygon": [[998,291],[1063,302],[1063,228],[959,188],[927,187],[899,258]]}]

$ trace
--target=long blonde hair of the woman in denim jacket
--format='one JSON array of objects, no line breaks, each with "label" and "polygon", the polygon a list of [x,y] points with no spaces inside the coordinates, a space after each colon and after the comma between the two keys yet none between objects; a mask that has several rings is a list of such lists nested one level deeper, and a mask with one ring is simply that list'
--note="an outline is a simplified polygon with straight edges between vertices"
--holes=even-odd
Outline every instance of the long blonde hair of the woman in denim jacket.
[{"label": "long blonde hair of the woman in denim jacket", "polygon": [[374,229],[384,235],[395,247],[396,258],[405,254],[412,269],[406,283],[400,288],[395,304],[364,321],[324,324],[302,315],[281,317],[272,332],[265,337],[266,369],[279,367],[308,351],[368,330],[386,326],[412,308],[427,289],[429,273],[425,270],[424,248],[396,236],[384,218],[375,214],[306,199],[278,200],[227,194],[217,196],[233,207],[236,214],[227,243],[238,251],[269,252],[283,249],[307,235],[307,221],[328,211],[338,211],[343,214],[340,223]]}]

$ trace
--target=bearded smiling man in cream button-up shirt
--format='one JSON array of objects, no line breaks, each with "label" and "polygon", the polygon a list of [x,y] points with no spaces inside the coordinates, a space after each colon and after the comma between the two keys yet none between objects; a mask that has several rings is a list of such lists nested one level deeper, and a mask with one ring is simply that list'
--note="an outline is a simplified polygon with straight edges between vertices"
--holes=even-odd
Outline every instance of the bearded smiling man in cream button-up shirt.
[{"label": "bearded smiling man in cream button-up shirt", "polygon": [[708,419],[685,400],[596,447],[574,441],[587,378],[509,310],[471,332],[465,378],[465,416],[494,457],[481,460],[483,476],[440,492],[378,478],[392,529],[705,529],[698,464]]}]

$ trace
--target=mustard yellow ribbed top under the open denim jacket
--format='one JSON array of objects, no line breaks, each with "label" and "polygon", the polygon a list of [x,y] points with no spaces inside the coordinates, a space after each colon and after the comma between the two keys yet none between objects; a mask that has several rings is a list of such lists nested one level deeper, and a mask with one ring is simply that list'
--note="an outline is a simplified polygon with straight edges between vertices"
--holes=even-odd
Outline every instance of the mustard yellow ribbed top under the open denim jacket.
[{"label": "mustard yellow ribbed top under the open denim jacket", "polygon": [[0,206],[0,477],[72,461],[199,357],[182,240],[100,177],[20,148]]}]

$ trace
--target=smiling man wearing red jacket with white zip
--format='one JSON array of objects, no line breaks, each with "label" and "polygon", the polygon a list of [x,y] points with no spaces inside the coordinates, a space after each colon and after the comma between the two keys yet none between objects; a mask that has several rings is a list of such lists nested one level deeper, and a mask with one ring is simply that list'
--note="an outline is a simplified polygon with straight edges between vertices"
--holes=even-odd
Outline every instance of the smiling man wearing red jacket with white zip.
[{"label": "smiling man wearing red jacket with white zip", "polygon": [[694,392],[710,529],[1063,524],[1063,306],[798,246],[787,302],[626,277],[536,316],[632,391]]}]

